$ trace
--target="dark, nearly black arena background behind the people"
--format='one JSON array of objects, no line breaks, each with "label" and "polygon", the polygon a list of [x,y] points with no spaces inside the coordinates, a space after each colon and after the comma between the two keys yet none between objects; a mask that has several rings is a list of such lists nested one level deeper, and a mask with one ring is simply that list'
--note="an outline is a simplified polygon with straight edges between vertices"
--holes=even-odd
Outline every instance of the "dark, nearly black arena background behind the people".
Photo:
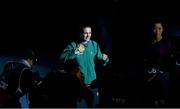
[{"label": "dark, nearly black arena background behind the people", "polygon": [[[35,3],[3,8],[0,74],[7,61],[16,60],[22,51],[33,49],[39,59],[39,65],[33,71],[43,81],[57,71],[60,54],[71,41],[79,38],[79,27],[88,24],[92,26],[92,39],[110,59],[107,67],[102,67],[100,62],[96,64],[100,84],[99,107],[153,107],[143,103],[144,48],[152,34],[152,21],[160,18],[166,22],[165,30],[173,47],[180,50],[180,14],[177,9],[168,10],[163,6],[157,12],[158,6],[141,5],[137,8],[131,6],[133,3],[124,5],[120,0],[76,4],[75,1],[71,4]],[[177,78],[180,79],[180,75]],[[63,93],[61,89],[66,87],[58,86],[58,83],[53,85],[51,93],[57,94]],[[179,87],[177,85],[177,89]],[[50,105],[45,89],[47,86],[42,86],[35,92],[35,107],[56,107]],[[174,99],[164,107],[179,107],[180,103]]]}]

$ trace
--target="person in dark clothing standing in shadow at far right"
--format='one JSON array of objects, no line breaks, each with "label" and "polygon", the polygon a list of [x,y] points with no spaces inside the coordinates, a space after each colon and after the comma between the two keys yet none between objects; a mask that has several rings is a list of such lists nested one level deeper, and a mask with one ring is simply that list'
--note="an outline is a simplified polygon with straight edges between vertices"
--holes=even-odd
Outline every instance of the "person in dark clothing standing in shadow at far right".
[{"label": "person in dark clothing standing in shadow at far right", "polygon": [[161,21],[153,23],[153,36],[145,50],[146,100],[148,106],[165,106],[169,94],[169,66],[171,43],[163,35]]}]

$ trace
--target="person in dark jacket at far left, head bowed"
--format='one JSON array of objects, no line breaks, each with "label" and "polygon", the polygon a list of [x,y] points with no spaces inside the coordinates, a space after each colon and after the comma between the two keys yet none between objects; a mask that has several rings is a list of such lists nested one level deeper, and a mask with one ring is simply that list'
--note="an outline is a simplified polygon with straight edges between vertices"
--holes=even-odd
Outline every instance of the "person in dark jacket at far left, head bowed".
[{"label": "person in dark jacket at far left, head bowed", "polygon": [[10,61],[5,64],[1,75],[1,82],[4,82],[7,85],[3,90],[8,98],[2,107],[22,107],[23,104],[21,103],[21,97],[27,98],[28,107],[28,94],[33,87],[33,73],[31,69],[36,64],[36,54],[32,50],[25,51],[20,60]]}]

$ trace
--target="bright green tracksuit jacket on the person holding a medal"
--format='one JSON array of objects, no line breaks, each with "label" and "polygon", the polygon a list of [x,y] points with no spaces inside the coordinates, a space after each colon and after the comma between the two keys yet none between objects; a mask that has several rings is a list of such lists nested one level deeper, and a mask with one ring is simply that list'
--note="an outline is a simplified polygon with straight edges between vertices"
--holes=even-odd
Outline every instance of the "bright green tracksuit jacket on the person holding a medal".
[{"label": "bright green tracksuit jacket on the person holding a medal", "polygon": [[[71,42],[64,49],[60,56],[60,60],[66,62],[68,59],[75,59],[79,64],[84,84],[91,84],[92,81],[96,79],[95,60],[102,60],[102,53],[99,45],[95,41],[90,40],[83,54],[75,54],[76,47],[77,44]],[[108,61],[109,59],[105,61],[105,64]]]}]

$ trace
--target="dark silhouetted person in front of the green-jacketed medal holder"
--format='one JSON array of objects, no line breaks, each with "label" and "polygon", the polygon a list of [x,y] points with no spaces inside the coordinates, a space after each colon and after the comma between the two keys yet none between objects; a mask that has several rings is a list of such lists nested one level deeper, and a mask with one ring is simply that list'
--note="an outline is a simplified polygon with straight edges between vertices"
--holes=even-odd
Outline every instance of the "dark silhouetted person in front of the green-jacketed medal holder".
[{"label": "dark silhouetted person in front of the green-jacketed medal holder", "polygon": [[79,66],[75,60],[68,60],[63,69],[49,72],[44,79],[47,86],[46,107],[75,108],[81,90]]}]

